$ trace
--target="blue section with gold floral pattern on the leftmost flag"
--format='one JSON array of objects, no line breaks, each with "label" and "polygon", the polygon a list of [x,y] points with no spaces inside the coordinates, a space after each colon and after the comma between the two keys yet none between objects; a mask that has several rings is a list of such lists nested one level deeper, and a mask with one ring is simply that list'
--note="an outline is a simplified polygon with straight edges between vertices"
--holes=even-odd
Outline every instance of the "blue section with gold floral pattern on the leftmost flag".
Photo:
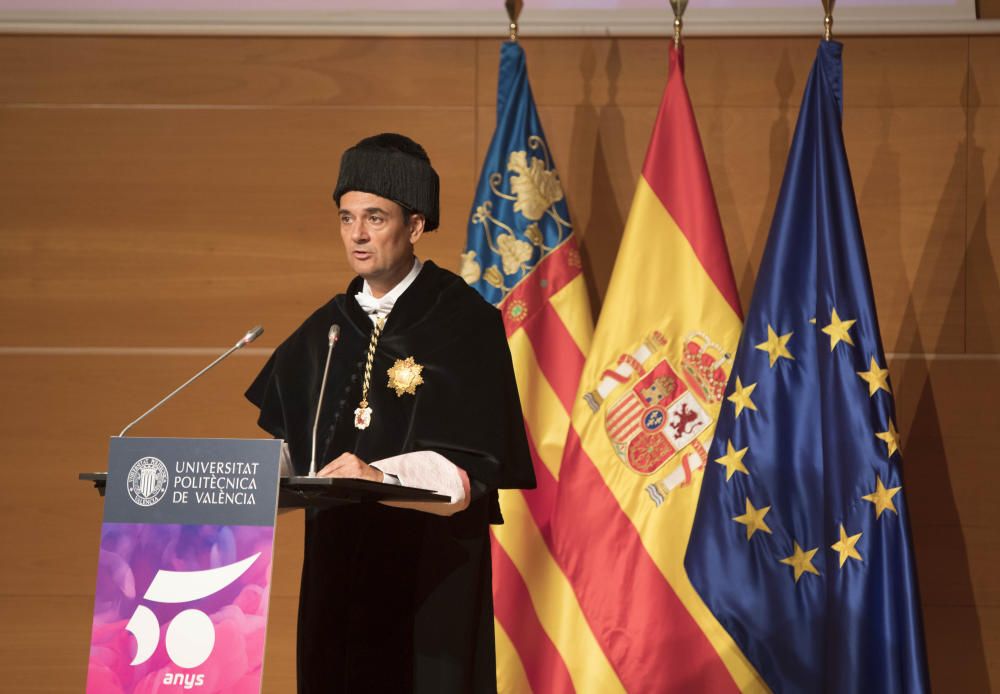
[{"label": "blue section with gold floral pattern on the leftmost flag", "polygon": [[[562,183],[531,95],[524,50],[507,41],[500,49],[497,126],[476,187],[460,274],[499,305],[572,232]],[[571,245],[575,249],[575,242]],[[523,318],[521,304],[508,309],[513,312],[508,319]]]}]

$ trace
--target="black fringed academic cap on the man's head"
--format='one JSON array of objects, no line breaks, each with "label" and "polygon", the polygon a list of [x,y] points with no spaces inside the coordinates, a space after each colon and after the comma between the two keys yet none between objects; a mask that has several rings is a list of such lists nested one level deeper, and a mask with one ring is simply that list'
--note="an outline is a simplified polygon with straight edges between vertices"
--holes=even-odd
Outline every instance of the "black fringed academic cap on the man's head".
[{"label": "black fringed academic cap on the man's head", "polygon": [[340,158],[333,201],[350,191],[388,198],[426,218],[424,231],[437,229],[441,183],[424,148],[405,135],[366,137]]}]

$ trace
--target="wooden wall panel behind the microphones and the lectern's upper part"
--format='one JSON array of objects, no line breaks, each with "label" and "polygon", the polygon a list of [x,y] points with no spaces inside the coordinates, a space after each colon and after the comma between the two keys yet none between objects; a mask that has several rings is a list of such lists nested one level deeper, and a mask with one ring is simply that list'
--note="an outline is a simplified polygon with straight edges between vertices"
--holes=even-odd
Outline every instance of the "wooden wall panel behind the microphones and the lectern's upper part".
[{"label": "wooden wall panel behind the microphones and the lectern's upper part", "polygon": [[[234,340],[235,342],[235,340]],[[139,436],[266,438],[243,391],[266,360],[238,353],[133,429]],[[108,439],[211,361],[210,354],[4,356],[0,459],[37,483],[0,505],[0,595],[92,595],[102,500],[77,473],[106,470]],[[301,514],[279,523],[275,595],[298,595]],[[39,542],[51,538],[49,542]]]}]

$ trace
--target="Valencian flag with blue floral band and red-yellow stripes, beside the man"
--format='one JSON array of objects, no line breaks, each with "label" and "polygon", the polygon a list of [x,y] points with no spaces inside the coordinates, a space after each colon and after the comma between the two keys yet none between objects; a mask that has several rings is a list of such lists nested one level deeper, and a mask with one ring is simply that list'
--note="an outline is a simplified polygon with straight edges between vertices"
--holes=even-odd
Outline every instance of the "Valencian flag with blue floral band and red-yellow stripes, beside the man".
[{"label": "Valencian flag with blue floral band and red-yellow stripes, beside the man", "polygon": [[514,41],[500,51],[496,131],[460,272],[502,312],[538,480],[534,490],[501,492],[505,523],[493,527],[498,685],[546,693],[602,687],[614,675],[549,534],[593,321],[564,191]]}]

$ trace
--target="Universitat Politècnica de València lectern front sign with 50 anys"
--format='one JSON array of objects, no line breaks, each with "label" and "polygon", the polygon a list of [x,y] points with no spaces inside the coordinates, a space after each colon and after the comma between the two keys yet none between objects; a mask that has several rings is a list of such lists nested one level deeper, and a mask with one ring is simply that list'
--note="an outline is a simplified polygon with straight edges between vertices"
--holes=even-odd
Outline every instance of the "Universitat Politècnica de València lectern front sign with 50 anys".
[{"label": "Universitat Polit\u00e8cnica de Val\u00e8ncia lectern front sign with 50 anys", "polygon": [[88,692],[260,691],[280,449],[111,440]]}]

